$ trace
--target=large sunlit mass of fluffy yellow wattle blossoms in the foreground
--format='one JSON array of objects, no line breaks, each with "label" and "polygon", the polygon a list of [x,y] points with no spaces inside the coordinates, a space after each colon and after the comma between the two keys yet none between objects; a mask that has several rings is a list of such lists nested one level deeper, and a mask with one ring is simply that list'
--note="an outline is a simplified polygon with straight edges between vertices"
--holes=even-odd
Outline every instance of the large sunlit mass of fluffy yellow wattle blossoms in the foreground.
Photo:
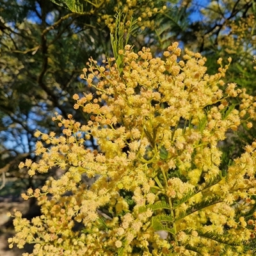
[{"label": "large sunlit mass of fluffy yellow wattle blossoms in the foreground", "polygon": [[[22,195],[38,198],[42,216],[15,212],[10,247],[34,243],[24,256],[243,255],[255,234],[256,142],[223,164],[219,141],[242,122],[252,127],[253,97],[221,80],[229,64],[219,60],[209,76],[205,58],[181,58],[177,43],[162,59],[130,45],[118,54],[122,67],[111,59],[84,68],[95,93],[74,95],[74,108],[90,121],[56,114],[63,136],[35,132],[51,147],[38,141],[40,161],[19,167],[31,176],[54,166],[65,173]],[[85,147],[90,138],[98,150]],[[97,180],[86,187],[83,175]]]}]

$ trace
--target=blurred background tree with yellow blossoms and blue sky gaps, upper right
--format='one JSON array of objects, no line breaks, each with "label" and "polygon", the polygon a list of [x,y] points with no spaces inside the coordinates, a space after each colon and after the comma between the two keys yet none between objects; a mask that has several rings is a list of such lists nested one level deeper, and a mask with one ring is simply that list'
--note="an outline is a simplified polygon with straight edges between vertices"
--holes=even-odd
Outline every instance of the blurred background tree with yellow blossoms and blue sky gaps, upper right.
[{"label": "blurred background tree with yellow blossoms and blue sky gaps, upper right", "polygon": [[[184,1],[186,12],[198,15],[182,35],[182,41],[196,51],[207,56],[209,72],[216,70],[218,58],[232,58],[225,81],[234,82],[239,88],[255,95],[256,72],[253,59],[256,54],[255,1]],[[236,102],[239,104],[240,102]],[[246,125],[232,132],[232,140],[226,141],[229,158],[241,153],[246,143],[255,139],[255,129]]]}]

